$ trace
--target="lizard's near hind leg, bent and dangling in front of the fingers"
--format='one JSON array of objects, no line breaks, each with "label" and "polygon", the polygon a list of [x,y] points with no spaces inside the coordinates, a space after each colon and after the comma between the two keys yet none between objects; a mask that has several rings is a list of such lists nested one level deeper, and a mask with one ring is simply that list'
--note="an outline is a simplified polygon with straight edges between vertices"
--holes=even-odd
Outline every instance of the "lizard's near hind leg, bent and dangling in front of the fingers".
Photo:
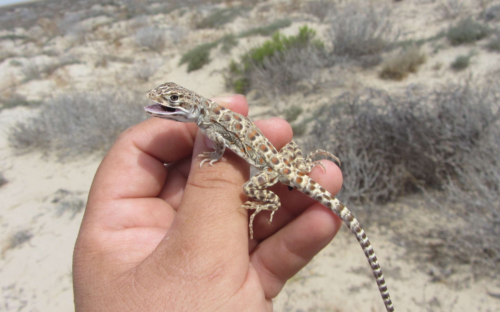
[{"label": "lizard's near hind leg, bent and dangling in front of the fingers", "polygon": [[250,229],[250,239],[253,238],[253,218],[262,210],[270,210],[271,215],[268,223],[272,221],[272,215],[281,206],[279,198],[276,194],[265,188],[270,187],[278,182],[279,174],[276,171],[267,168],[255,174],[250,180],[243,185],[243,192],[246,196],[255,201],[247,201],[241,208],[255,209],[250,216],[248,227]]}]

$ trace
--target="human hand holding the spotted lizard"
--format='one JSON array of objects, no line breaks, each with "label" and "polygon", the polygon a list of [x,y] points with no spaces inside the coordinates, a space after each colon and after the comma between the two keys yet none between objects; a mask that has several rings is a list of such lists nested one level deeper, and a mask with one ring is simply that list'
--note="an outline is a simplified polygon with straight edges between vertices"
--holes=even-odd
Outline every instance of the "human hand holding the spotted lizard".
[{"label": "human hand holding the spotted lizard", "polygon": [[[240,95],[214,99],[246,115]],[[291,140],[282,119],[255,122],[277,148]],[[75,311],[272,311],[271,299],[326,246],[340,219],[285,185],[282,207],[254,220],[248,240],[242,185],[248,164],[226,149],[214,166],[193,123],[150,118],[116,140],[95,174],[73,254]],[[309,174],[332,194],[333,163]],[[168,163],[168,165],[163,165]]]}]

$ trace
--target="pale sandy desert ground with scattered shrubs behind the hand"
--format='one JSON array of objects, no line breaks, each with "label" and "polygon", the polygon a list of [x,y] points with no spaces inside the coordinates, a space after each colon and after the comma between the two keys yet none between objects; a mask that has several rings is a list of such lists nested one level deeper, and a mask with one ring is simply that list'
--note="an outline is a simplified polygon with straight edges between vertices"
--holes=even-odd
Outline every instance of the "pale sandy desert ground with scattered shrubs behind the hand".
[{"label": "pale sandy desert ground with scattered shrubs behind the hand", "polygon": [[[301,43],[304,25],[313,32]],[[244,93],[250,119],[283,117],[305,150],[334,151],[346,163],[338,198],[364,225],[396,311],[500,311],[499,26],[500,0],[0,7],[0,311],[74,309],[71,256],[93,174],[114,138],[147,118],[145,93],[165,81],[207,98]],[[283,50],[256,59],[277,30]],[[388,127],[383,135],[394,125],[422,130],[408,134],[411,153],[363,158],[400,144],[376,131],[349,136],[349,118],[339,119],[345,129],[333,122],[332,109],[355,99],[373,101],[381,119],[363,123]],[[74,119],[78,107],[87,119]],[[371,106],[356,107],[371,116]],[[99,113],[116,108],[127,113]],[[345,227],[273,301],[275,311],[385,310]]]}]

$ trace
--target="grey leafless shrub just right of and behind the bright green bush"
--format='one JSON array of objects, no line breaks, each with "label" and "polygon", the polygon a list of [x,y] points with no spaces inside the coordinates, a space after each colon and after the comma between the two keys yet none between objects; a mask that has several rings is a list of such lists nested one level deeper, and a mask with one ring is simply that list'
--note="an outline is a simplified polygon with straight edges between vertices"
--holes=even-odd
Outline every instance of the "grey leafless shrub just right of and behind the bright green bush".
[{"label": "grey leafless shrub just right of and behind the bright green bush", "polygon": [[353,2],[337,10],[330,24],[333,52],[354,59],[388,51],[397,38],[390,10],[364,1]]}]

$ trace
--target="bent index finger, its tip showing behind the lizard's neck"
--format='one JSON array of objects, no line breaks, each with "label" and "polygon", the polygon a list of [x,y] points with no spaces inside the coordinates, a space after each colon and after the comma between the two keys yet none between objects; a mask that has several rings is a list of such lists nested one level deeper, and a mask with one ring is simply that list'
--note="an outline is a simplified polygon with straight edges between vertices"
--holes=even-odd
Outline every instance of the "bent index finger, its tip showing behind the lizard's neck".
[{"label": "bent index finger, its tip showing behind the lizard's neck", "polygon": [[[233,95],[214,99],[246,114],[246,99]],[[192,153],[197,126],[150,118],[123,131],[102,160],[90,188],[89,200],[155,197],[166,179],[164,163]]]}]

